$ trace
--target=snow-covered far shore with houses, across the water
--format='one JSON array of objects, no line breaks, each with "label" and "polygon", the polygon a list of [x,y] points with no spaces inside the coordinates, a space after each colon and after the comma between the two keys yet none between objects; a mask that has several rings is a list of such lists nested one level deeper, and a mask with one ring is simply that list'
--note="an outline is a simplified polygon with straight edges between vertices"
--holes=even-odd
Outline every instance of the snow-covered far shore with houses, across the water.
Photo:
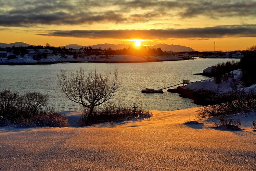
[{"label": "snow-covered far shore with houses, across the water", "polygon": [[[0,58],[0,64],[34,64],[34,63],[62,63],[62,62],[149,62],[145,58],[132,56],[132,55],[110,55],[107,58],[105,55],[91,55],[84,58],[74,58],[73,55],[66,55],[67,58],[56,56],[47,56],[39,61],[33,60],[32,56],[25,55],[24,57],[17,56],[17,59],[7,60],[6,58]],[[172,61],[172,60],[184,60],[177,56],[149,56],[151,60],[159,61]]]}]

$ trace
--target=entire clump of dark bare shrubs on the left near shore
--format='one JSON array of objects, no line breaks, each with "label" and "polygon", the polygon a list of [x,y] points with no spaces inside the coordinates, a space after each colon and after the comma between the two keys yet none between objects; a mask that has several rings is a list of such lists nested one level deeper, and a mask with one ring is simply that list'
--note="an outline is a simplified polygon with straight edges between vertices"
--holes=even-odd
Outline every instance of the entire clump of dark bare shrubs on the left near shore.
[{"label": "entire clump of dark bare shrubs on the left near shore", "polygon": [[16,91],[0,92],[0,124],[21,126],[67,127],[67,118],[53,109],[45,109],[48,96],[39,92],[19,95]]}]

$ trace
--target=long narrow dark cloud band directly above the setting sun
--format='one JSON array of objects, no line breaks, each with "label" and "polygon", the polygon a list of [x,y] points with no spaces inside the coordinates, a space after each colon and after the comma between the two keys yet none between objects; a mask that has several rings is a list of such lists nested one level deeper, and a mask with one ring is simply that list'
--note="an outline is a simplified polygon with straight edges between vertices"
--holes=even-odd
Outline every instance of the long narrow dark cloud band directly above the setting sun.
[{"label": "long narrow dark cloud band directly above the setting sun", "polygon": [[256,37],[256,25],[227,25],[204,28],[151,30],[50,30],[42,36],[113,38],[113,39],[168,39]]}]

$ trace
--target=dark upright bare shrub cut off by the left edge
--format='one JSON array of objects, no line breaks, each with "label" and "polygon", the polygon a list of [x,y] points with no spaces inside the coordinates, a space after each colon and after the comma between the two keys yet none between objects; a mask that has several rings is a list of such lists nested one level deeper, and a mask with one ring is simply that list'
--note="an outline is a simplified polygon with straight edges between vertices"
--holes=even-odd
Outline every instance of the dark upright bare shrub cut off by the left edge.
[{"label": "dark upright bare shrub cut off by the left edge", "polygon": [[17,119],[17,108],[21,98],[16,91],[3,90],[0,92],[0,120],[14,121]]}]

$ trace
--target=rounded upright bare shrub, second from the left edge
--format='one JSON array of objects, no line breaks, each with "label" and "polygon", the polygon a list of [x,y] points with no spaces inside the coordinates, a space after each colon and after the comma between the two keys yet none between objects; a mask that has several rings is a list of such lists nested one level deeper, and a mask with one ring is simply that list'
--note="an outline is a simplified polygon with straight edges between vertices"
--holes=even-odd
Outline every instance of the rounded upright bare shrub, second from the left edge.
[{"label": "rounded upright bare shrub, second from the left edge", "polygon": [[22,96],[22,117],[25,124],[29,124],[31,119],[36,116],[39,111],[46,106],[49,97],[39,92],[26,92]]}]

